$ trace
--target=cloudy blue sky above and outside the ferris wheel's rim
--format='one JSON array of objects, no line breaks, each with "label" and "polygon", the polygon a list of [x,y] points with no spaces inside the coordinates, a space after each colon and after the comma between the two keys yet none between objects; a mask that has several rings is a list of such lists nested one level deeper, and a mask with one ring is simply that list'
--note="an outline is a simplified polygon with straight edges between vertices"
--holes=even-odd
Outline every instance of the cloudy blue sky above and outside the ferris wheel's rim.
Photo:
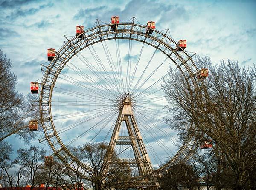
[{"label": "cloudy blue sky above and outside the ferris wheel's rim", "polygon": [[[153,20],[157,30],[169,28],[173,39],[186,39],[186,51],[250,67],[256,62],[255,10],[254,0],[0,0],[0,48],[12,60],[16,88],[24,95],[30,82],[43,77],[47,48],[60,48],[63,35],[74,36],[77,25],[91,28],[96,19],[108,23],[113,15],[143,25]],[[28,146],[8,140],[14,150]]]}]

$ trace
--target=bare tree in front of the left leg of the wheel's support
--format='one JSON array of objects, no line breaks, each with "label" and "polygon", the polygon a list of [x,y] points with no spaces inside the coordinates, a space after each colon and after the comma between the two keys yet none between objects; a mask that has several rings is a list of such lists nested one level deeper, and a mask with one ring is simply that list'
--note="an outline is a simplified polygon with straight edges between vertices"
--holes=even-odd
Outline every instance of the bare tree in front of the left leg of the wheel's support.
[{"label": "bare tree in front of the left leg of the wheel's support", "polygon": [[[116,153],[107,155],[108,145],[105,143],[87,143],[73,149],[76,157],[92,170],[86,170],[91,186],[95,190],[106,190],[127,183],[130,169],[127,164],[118,163]],[[106,159],[106,156],[109,156]],[[108,161],[106,161],[108,160]]]}]

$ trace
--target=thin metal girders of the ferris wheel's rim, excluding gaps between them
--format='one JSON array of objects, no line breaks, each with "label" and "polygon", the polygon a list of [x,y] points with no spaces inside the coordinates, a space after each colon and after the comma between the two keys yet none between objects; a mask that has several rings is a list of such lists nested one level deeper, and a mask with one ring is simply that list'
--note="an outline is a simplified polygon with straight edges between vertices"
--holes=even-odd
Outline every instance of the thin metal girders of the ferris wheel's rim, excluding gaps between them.
[{"label": "thin metal girders of the ferris wheel's rim, excluding gaps between them", "polygon": [[[148,29],[146,26],[143,26],[143,25],[140,25],[140,24],[137,24],[137,23],[119,23],[118,25],[119,25],[119,27],[120,27],[120,26],[131,26],[131,27],[136,26],[136,27]],[[108,28],[110,28],[111,26],[112,26],[111,23],[105,24],[105,25],[98,25],[98,26],[95,26],[95,27],[93,27],[93,28],[90,28],[90,29],[84,31],[83,34],[87,34],[87,33],[89,33],[90,31],[94,31],[94,30],[96,30],[96,29],[103,28],[103,27],[108,27]],[[161,31],[157,31],[157,30],[154,30],[154,32],[157,33],[157,34],[162,35],[163,38],[166,37],[167,39],[171,40],[172,43],[174,43],[175,45],[178,45],[175,40],[173,40],[171,37],[168,37],[168,36],[166,35],[167,32],[166,32],[166,34],[163,34]],[[132,35],[140,35],[140,36],[143,36],[143,37],[148,37],[148,38],[150,38],[152,41],[154,40],[154,39],[152,39],[152,38],[155,38],[155,37],[153,37],[153,36],[151,36],[151,35],[148,35],[148,34],[145,34],[145,33],[140,33],[140,34],[138,34],[138,33],[134,32],[134,31],[130,31],[130,32],[129,32],[128,30],[126,30],[126,31],[123,31],[123,30],[111,31],[111,30],[109,30],[109,32],[105,32],[105,33],[102,33],[102,34],[98,34],[98,36],[96,36],[97,33],[93,33],[94,39],[96,39],[96,38],[99,37],[99,36],[102,36],[102,37],[103,37],[103,36],[105,36],[105,35],[110,35],[110,34],[114,34],[114,37],[112,37],[112,38],[106,38],[106,39],[100,39],[100,40],[98,40],[98,41],[95,41],[95,42],[93,42],[93,43],[90,43],[89,45],[85,45],[83,48],[81,48],[81,49],[79,49],[78,51],[76,51],[76,48],[77,48],[77,47],[80,47],[81,45],[86,44],[86,41],[84,41],[83,43],[81,43],[79,46],[77,46],[76,48],[74,48],[74,49],[72,50],[71,47],[74,46],[74,44],[72,44],[72,42],[73,42],[74,40],[80,41],[78,36],[77,36],[77,37],[73,37],[73,38],[71,38],[71,39],[67,39],[67,40],[68,40],[67,43],[64,43],[64,45],[62,46],[62,48],[60,48],[60,49],[58,50],[58,52],[56,52],[55,59],[52,60],[52,62],[50,62],[49,65],[46,67],[46,70],[45,70],[45,73],[44,73],[44,78],[42,79],[42,83],[41,83],[41,87],[42,87],[42,88],[41,88],[41,93],[40,93],[41,124],[42,124],[43,129],[44,129],[44,134],[45,134],[46,140],[48,141],[50,147],[51,147],[52,150],[54,151],[54,154],[55,154],[56,156],[58,156],[60,159],[61,159],[62,157],[61,157],[61,155],[59,154],[59,152],[61,152],[62,150],[64,150],[64,151],[68,154],[68,156],[70,156],[71,159],[75,160],[75,157],[72,156],[72,153],[70,153],[70,151],[67,149],[67,147],[65,147],[65,145],[63,144],[61,138],[58,136],[58,133],[56,132],[56,129],[55,129],[54,122],[53,122],[53,120],[52,120],[52,111],[51,111],[52,91],[53,91],[55,82],[56,82],[56,80],[57,80],[57,78],[58,78],[58,74],[61,73],[61,70],[64,68],[65,64],[66,64],[69,60],[71,60],[73,56],[75,56],[78,52],[82,51],[84,48],[89,47],[90,45],[93,45],[93,44],[95,44],[95,43],[99,43],[99,42],[101,42],[101,41],[113,40],[113,39],[136,40],[136,39],[134,39],[134,38],[131,38],[131,36],[130,36],[130,37],[118,37],[118,35],[117,35],[117,34],[124,34],[124,33],[125,33],[125,34],[131,34],[131,36],[132,36]],[[160,45],[160,44],[163,45],[163,43],[164,43],[164,42],[163,42],[163,38],[162,38],[161,40],[158,39],[157,42],[159,43],[159,45]],[[89,40],[91,40],[91,39],[89,39]],[[88,42],[89,40],[87,40],[87,42]],[[142,42],[142,43],[146,43],[146,44],[148,44],[148,45],[151,45],[152,47],[157,48],[157,49],[159,49],[162,53],[164,53],[164,52],[159,48],[159,45],[158,45],[158,46],[152,45],[151,43],[148,43],[148,42],[146,42],[145,40],[143,41],[143,40],[137,39],[137,41]],[[68,45],[70,45],[71,51],[68,51],[69,48],[65,49],[65,47],[67,47]],[[166,45],[166,44],[165,44],[165,45]],[[65,59],[66,62],[64,62],[64,60],[63,60],[63,61],[62,61],[63,65],[59,65],[59,68],[60,68],[61,66],[62,66],[62,68],[61,68],[61,69],[58,68],[58,70],[56,70],[55,73],[54,73],[53,67],[55,66],[56,62],[57,62],[58,59],[60,58],[60,57],[58,57],[58,55],[60,55],[61,52],[62,52],[64,49],[68,52],[68,54],[66,55],[65,58],[67,58],[67,57],[68,57],[69,55],[71,55],[72,53],[73,53],[73,55],[71,55],[71,57],[69,57],[67,60]],[[177,53],[177,51],[175,51],[175,48],[172,48],[171,50],[172,50],[172,54],[174,53],[175,55],[177,55],[177,58],[178,58],[179,60],[181,60],[181,62],[183,63],[183,65],[186,65],[186,62],[188,62],[188,60],[189,60],[189,61],[192,62],[192,66],[194,66],[194,70],[197,71],[197,72],[199,71],[198,68],[196,67],[194,61],[192,60],[192,55],[190,56],[186,51],[183,51],[183,52],[186,54],[186,56],[188,57],[187,60],[183,60],[183,59],[181,59],[181,57],[179,56],[179,54]],[[66,52],[66,51],[64,51],[64,52]],[[166,54],[166,53],[164,53],[164,54]],[[62,54],[62,55],[63,55],[63,54]],[[166,54],[166,56],[168,56],[169,58],[171,58],[170,55],[168,55],[168,54]],[[171,60],[172,60],[172,59],[171,59]],[[176,62],[175,62],[174,60],[172,60],[172,62],[174,62],[174,63],[176,64]],[[57,64],[58,64],[58,63],[57,63]],[[176,64],[176,65],[177,65],[177,64]],[[177,67],[180,69],[179,65],[177,65]],[[186,69],[189,70],[189,66],[188,66]],[[49,85],[49,81],[47,81],[47,79],[48,79],[48,77],[49,77],[49,74],[51,74],[51,72],[53,73],[54,78],[52,79],[51,85]],[[185,77],[186,80],[187,80],[187,79],[192,79],[193,84],[195,84],[195,88],[198,88],[198,81],[193,79],[193,77],[192,77],[193,74],[192,74],[191,72],[188,71],[188,73],[189,73],[189,75],[190,75],[190,78],[186,78],[186,77],[189,77],[189,76],[188,76],[188,75],[185,76],[184,73],[183,73],[183,71],[182,71],[181,69],[180,69],[180,72],[183,74],[183,76]],[[45,94],[45,93],[44,93],[44,90],[47,90],[47,89],[50,91],[50,94],[49,94],[48,104],[47,104],[47,103],[45,104],[45,102],[47,102],[47,101],[45,101],[45,98],[43,97],[43,95]],[[43,113],[43,111],[42,111],[42,106],[48,106],[48,108],[49,108],[49,121],[47,121],[47,120],[46,120],[46,117],[44,116],[45,113]],[[47,131],[48,129],[47,129],[46,126],[45,126],[45,122],[50,122],[50,123],[51,123],[52,132],[53,132],[52,134],[49,134],[49,133],[48,133],[48,131]],[[55,147],[54,147],[52,141],[50,140],[52,137],[55,137],[55,138],[58,140],[59,144],[61,145],[61,148],[60,148],[59,150],[55,150]],[[186,143],[187,143],[187,142],[186,142]],[[186,144],[186,143],[184,143],[184,144]],[[186,147],[186,145],[185,145],[185,147]],[[174,156],[174,157],[175,157],[175,156]],[[63,159],[61,159],[61,161],[64,162]],[[173,160],[173,162],[174,162],[174,161],[175,161],[175,160]],[[77,161],[77,162],[78,162],[78,161]],[[68,164],[68,163],[67,163],[67,164]],[[82,163],[79,163],[79,164],[82,164]],[[90,167],[87,167],[87,166],[83,166],[83,167],[86,167],[87,169],[90,169]],[[157,169],[157,170],[164,169],[165,167],[167,167],[167,166],[160,167],[160,168]]]}]

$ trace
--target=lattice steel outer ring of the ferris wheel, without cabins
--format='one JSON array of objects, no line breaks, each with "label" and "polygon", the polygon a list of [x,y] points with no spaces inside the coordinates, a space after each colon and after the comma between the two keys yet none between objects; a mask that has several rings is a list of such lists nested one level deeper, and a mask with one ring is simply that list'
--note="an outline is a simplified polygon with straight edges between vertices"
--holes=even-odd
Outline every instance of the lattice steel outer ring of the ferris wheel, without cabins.
[{"label": "lattice steel outer ring of the ferris wheel, without cabins", "polygon": [[[198,80],[195,79],[195,74],[199,71],[195,65],[195,62],[192,60],[192,57],[195,54],[189,54],[189,52],[183,51],[183,54],[181,55],[181,53],[175,51],[178,44],[175,40],[166,35],[167,32],[164,34],[161,31],[154,30],[154,35],[149,35],[147,34],[148,28],[146,26],[136,23],[119,23],[118,30],[116,31],[113,31],[110,28],[111,24],[98,25],[90,28],[81,34],[85,37],[82,40],[79,39],[79,36],[71,39],[64,36],[64,45],[55,54],[54,59],[49,63],[48,66],[41,65],[41,70],[44,71],[44,77],[41,82],[39,107],[41,114],[41,125],[45,134],[45,139],[41,141],[47,140],[54,154],[73,171],[75,171],[75,169],[70,166],[70,164],[74,162],[79,164],[85,170],[91,170],[91,168],[87,167],[85,164],[76,159],[76,157],[73,156],[72,153],[70,153],[70,151],[67,149],[67,147],[65,147],[64,143],[58,136],[52,120],[51,99],[55,82],[58,75],[61,73],[62,68],[64,68],[65,64],[79,51],[89,47],[90,45],[105,40],[128,39],[140,41],[142,43],[151,45],[152,47],[157,48],[162,53],[166,54],[166,56],[168,56],[170,60],[175,63],[177,68],[179,68],[186,81],[190,81],[194,85],[195,89],[200,89],[199,85],[204,85],[202,80],[200,81],[200,84],[198,84]],[[143,38],[144,40],[142,40]],[[67,41],[65,41],[65,39]],[[165,169],[169,164],[175,162],[179,155],[188,146],[192,146],[189,144],[190,140],[191,139],[188,139],[187,142],[183,144],[182,148],[173,157],[171,162],[163,165],[157,171]],[[87,176],[84,176],[84,178],[90,181]]]}]

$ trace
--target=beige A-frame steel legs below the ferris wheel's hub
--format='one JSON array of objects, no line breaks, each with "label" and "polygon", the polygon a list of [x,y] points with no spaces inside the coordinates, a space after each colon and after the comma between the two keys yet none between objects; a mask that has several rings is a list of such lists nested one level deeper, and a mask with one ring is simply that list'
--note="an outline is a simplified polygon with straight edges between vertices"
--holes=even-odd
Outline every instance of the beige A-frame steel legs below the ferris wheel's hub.
[{"label": "beige A-frame steel legs below the ferris wheel's hub", "polygon": [[[129,136],[122,136],[121,138],[119,138],[119,131],[121,129],[122,122],[125,122]],[[145,149],[140,130],[135,120],[134,113],[131,108],[131,102],[124,103],[122,109],[119,111],[116,125],[113,129],[113,134],[108,145],[107,155],[111,155],[113,153],[117,142],[120,141],[118,141],[118,139],[130,139],[130,144],[132,145],[135,158],[118,159],[116,162],[111,162],[111,160],[107,159],[106,162],[111,162],[112,165],[119,166],[125,165],[126,163],[131,167],[137,167],[139,175],[144,176],[143,181],[149,181],[150,183],[154,183],[156,189],[158,189],[157,179],[154,174],[154,170],[151,165],[148,153]]]}]

